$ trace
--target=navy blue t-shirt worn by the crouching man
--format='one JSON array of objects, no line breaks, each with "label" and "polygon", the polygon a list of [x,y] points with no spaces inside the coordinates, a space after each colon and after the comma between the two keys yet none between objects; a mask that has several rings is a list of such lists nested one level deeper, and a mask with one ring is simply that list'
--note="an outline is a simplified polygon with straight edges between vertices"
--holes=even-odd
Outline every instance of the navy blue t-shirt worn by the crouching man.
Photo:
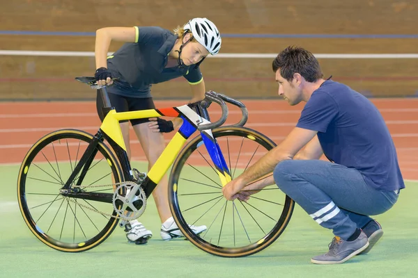
[{"label": "navy blue t-shirt worn by the crouching man", "polygon": [[359,170],[373,188],[405,188],[382,115],[369,99],[347,85],[325,81],[307,101],[296,126],[318,131],[325,156]]}]

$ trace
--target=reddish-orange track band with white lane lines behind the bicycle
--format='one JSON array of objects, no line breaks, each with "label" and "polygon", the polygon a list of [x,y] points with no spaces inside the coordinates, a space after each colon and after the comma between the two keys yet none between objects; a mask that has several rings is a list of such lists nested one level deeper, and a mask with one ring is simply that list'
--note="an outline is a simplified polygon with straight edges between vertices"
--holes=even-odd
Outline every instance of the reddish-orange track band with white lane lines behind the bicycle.
[{"label": "reddish-orange track band with white lane lines behind the bicycle", "polygon": [[[372,99],[382,112],[392,133],[405,179],[418,180],[418,99]],[[245,100],[249,110],[246,126],[281,142],[293,128],[303,107],[288,106],[281,100]],[[180,106],[185,101],[156,101],[160,108]],[[226,123],[240,119],[238,108],[231,107]],[[20,163],[28,149],[45,134],[61,128],[82,128],[95,133],[100,121],[93,101],[3,102],[0,103],[0,163]],[[251,111],[253,113],[251,113]],[[210,106],[211,120],[219,117],[216,104]],[[73,115],[72,117],[70,115]],[[169,140],[170,135],[165,135]],[[132,156],[144,160],[132,131]]]}]

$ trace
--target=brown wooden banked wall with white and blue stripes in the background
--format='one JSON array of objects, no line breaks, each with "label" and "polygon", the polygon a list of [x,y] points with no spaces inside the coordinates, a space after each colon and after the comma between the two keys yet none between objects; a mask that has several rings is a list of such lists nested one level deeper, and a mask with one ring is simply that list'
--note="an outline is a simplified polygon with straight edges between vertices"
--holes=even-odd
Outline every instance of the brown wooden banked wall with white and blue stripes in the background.
[{"label": "brown wooden banked wall with white and blue stripes in the background", "polygon": [[[94,33],[103,26],[173,29],[208,17],[226,34],[414,35],[418,2],[395,0],[13,0],[3,1],[1,31]],[[93,51],[92,35],[0,35],[1,50]],[[417,38],[224,38],[221,53],[277,54],[290,44],[314,54],[416,53]],[[120,43],[112,43],[115,51]],[[325,76],[371,96],[412,96],[417,59],[320,59]],[[274,97],[272,59],[210,58],[202,65],[208,90],[233,97]],[[92,75],[93,57],[0,56],[0,99],[93,99],[73,81]],[[153,95],[189,97],[183,79],[153,86]]]}]

